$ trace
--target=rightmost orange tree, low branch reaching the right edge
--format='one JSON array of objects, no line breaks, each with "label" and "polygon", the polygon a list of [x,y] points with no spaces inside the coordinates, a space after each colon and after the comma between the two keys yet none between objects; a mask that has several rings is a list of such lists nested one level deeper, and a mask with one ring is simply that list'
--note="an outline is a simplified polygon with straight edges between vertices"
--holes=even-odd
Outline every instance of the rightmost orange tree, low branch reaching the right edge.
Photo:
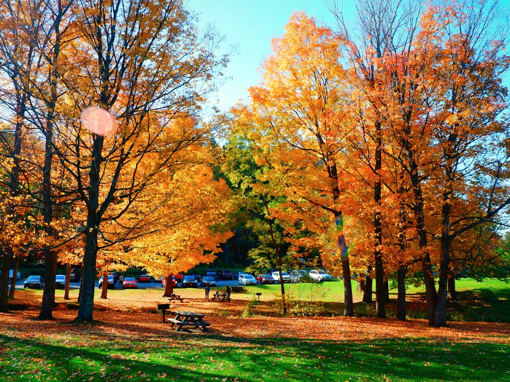
[{"label": "rightmost orange tree, low branch reaching the right edge", "polygon": [[[439,196],[441,259],[438,297],[433,324],[446,325],[447,283],[451,275],[450,248],[462,233],[490,222],[505,211],[507,198],[508,126],[501,118],[507,89],[501,76],[508,69],[504,53],[507,30],[498,22],[494,2],[432,8],[422,24],[435,33],[440,46],[432,136],[438,167],[432,182]],[[497,24],[496,24],[497,26]],[[459,213],[457,204],[474,202],[471,213]],[[474,213],[473,213],[474,212]]]}]

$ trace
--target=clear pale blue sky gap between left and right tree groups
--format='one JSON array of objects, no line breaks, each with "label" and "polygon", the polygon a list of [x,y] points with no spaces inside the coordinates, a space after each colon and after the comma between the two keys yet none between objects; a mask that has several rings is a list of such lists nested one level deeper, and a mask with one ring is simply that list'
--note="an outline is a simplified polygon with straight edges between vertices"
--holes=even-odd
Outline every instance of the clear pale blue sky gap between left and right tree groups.
[{"label": "clear pale blue sky gap between left and right tree groups", "polygon": [[232,79],[218,92],[217,106],[225,111],[246,99],[246,90],[258,84],[257,69],[271,53],[271,39],[282,36],[295,11],[331,26],[334,22],[323,0],[189,0],[189,7],[200,14],[201,24],[214,24],[227,44],[238,45],[224,71]]}]

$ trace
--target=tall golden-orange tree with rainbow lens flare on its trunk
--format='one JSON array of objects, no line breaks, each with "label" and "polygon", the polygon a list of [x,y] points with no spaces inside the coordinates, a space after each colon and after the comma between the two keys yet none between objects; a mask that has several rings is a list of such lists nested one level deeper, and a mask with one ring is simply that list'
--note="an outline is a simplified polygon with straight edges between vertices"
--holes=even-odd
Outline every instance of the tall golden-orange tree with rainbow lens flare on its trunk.
[{"label": "tall golden-orange tree with rainbow lens flare on its trunk", "polygon": [[272,172],[279,172],[274,178],[287,188],[284,195],[294,195],[330,214],[329,222],[336,227],[335,253],[344,276],[344,314],[352,316],[341,205],[347,184],[339,163],[349,126],[343,109],[348,97],[346,72],[339,63],[342,44],[328,28],[295,13],[285,34],[272,41],[273,53],[262,65],[261,85],[250,89],[249,105],[236,111],[236,116],[259,145],[261,156],[270,161]]}]

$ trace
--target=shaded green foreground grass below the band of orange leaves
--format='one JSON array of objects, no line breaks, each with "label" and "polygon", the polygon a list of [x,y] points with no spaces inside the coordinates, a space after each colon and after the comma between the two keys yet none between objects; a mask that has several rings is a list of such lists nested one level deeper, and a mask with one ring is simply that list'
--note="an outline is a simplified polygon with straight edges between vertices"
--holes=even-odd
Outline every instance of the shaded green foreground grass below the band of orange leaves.
[{"label": "shaded green foreground grass below the band of orange leaves", "polygon": [[[366,343],[181,335],[161,341],[0,335],[4,381],[510,380],[510,348],[406,338]],[[236,379],[237,378],[237,379]]]}]

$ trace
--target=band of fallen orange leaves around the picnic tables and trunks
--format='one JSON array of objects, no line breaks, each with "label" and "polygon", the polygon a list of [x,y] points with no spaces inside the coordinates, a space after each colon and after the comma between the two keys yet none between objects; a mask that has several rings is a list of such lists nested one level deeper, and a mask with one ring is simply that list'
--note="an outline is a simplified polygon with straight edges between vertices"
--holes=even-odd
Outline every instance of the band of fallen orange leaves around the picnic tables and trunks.
[{"label": "band of fallen orange leaves around the picnic tables and trunks", "polygon": [[[117,291],[113,291],[117,292]],[[118,291],[108,299],[96,299],[94,324],[72,323],[77,316],[76,303],[58,299],[54,320],[36,320],[40,302],[33,291],[17,292],[13,310],[0,315],[3,328],[17,332],[19,338],[34,334],[58,336],[62,331],[79,335],[91,328],[105,334],[125,338],[150,340],[164,336],[179,336],[168,323],[162,322],[158,304],[166,303],[161,290]],[[136,296],[136,297],[135,297]],[[451,321],[447,328],[430,328],[423,319],[398,321],[395,319],[354,317],[281,317],[256,315],[244,317],[249,304],[246,299],[230,303],[210,302],[198,296],[186,297],[184,302],[172,302],[171,309],[193,310],[206,314],[211,323],[209,334],[239,338],[301,338],[341,341],[371,341],[388,338],[433,338],[451,341],[490,341],[510,344],[510,324],[496,322]],[[272,301],[261,302],[261,308],[272,310]]]}]

